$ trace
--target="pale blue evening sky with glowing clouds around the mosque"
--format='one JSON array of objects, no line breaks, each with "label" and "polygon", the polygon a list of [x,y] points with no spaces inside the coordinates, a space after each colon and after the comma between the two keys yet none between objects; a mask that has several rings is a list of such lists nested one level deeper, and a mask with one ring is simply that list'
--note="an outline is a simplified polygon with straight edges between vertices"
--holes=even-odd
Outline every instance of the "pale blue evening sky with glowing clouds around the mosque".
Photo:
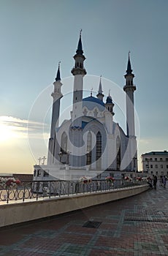
[{"label": "pale blue evening sky with glowing clouds around the mosque", "polygon": [[33,173],[38,158],[47,157],[58,61],[66,95],[61,108],[69,113],[80,29],[93,78],[85,79],[85,95],[91,88],[96,95],[102,75],[104,94],[110,89],[116,103],[115,121],[125,130],[106,81],[123,95],[130,50],[139,169],[141,154],[167,150],[167,12],[167,0],[0,0],[0,173]]}]

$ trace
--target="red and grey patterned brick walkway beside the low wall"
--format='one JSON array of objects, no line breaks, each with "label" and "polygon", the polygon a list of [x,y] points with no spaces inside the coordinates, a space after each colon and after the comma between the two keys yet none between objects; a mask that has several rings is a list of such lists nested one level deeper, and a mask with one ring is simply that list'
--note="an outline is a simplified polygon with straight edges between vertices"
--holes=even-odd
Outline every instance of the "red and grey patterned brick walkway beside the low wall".
[{"label": "red and grey patterned brick walkway beside the low wall", "polygon": [[2,228],[1,255],[168,255],[168,188]]}]

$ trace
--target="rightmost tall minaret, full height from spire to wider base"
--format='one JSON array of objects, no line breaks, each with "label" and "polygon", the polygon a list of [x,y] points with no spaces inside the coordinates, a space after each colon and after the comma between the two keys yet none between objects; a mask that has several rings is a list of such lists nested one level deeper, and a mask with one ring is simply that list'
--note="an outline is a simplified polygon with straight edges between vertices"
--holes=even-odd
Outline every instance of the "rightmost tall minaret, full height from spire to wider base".
[{"label": "rightmost tall minaret, full height from spire to wider base", "polygon": [[126,130],[128,146],[126,149],[126,159],[127,159],[127,167],[129,170],[137,170],[137,138],[135,136],[135,124],[134,124],[134,91],[136,90],[136,86],[134,86],[133,79],[134,74],[131,69],[131,61],[130,61],[130,52],[129,52],[129,60],[126,69],[126,85],[123,87],[123,91],[126,91]]}]

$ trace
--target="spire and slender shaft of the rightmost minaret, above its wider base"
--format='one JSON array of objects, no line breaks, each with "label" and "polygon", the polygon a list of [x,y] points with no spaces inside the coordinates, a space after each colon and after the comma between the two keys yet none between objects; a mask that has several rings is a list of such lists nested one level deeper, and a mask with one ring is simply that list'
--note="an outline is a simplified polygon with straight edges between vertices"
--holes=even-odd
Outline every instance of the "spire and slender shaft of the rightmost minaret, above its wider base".
[{"label": "spire and slender shaft of the rightmost minaret, above its wider base", "polygon": [[123,87],[123,91],[126,91],[126,131],[127,136],[130,137],[135,136],[134,91],[136,90],[136,86],[134,86],[133,83],[134,74],[132,74],[130,56],[127,64],[126,75],[124,75],[124,77],[126,78],[126,85]]}]

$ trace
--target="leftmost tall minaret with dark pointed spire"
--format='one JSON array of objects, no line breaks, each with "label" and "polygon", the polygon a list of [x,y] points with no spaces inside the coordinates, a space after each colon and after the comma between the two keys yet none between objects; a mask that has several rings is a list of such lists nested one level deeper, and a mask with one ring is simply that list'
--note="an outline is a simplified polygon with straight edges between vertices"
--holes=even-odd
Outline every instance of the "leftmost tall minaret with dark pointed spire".
[{"label": "leftmost tall minaret with dark pointed spire", "polygon": [[59,125],[59,112],[60,112],[60,99],[63,97],[61,94],[61,76],[60,76],[60,62],[58,63],[58,71],[56,75],[56,80],[53,83],[54,91],[51,94],[53,97],[53,113],[52,113],[52,121],[50,127],[50,139],[48,145],[48,157],[47,164],[52,165],[54,162],[54,152],[56,146],[56,127]]}]

